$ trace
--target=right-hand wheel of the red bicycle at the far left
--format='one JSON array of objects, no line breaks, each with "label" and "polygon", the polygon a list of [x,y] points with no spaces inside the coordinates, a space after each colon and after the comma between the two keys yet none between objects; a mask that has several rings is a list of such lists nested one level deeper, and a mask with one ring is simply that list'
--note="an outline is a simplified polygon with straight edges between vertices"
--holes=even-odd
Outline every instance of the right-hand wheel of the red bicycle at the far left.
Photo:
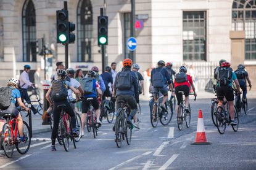
[{"label": "right-hand wheel of the red bicycle at the far left", "polygon": [[[17,141],[16,142],[16,149],[20,154],[25,154],[28,152],[28,150],[30,149],[30,144],[31,144],[31,136],[30,136],[30,130],[29,130],[29,126],[28,123],[23,121],[23,137],[25,137],[25,142],[20,142]],[[20,134],[17,134],[20,138]]]}]

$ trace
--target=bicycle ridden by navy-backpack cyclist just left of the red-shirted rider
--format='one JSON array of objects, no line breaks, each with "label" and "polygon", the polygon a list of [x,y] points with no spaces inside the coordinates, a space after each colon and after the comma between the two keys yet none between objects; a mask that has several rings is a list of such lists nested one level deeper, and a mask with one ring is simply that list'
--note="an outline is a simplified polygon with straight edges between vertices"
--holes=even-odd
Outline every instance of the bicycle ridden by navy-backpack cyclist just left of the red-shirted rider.
[{"label": "bicycle ridden by navy-backpack cyclist just left of the red-shirted rider", "polygon": [[[151,125],[153,128],[155,128],[160,120],[160,123],[163,126],[166,126],[171,122],[171,118],[173,117],[173,112],[171,112],[170,109],[170,102],[168,102],[168,100],[165,102],[165,108],[167,109],[167,112],[163,112],[160,107],[160,101],[163,96],[159,97],[159,92],[154,92],[154,94],[157,95],[157,101],[154,101],[153,107],[151,109]],[[151,98],[154,97],[151,96]]]}]

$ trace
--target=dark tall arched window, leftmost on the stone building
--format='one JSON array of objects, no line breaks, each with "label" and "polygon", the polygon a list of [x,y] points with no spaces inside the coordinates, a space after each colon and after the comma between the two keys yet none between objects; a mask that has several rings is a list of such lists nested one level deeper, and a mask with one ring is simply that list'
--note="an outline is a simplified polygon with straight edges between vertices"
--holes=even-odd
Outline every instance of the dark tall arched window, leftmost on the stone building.
[{"label": "dark tall arched window, leftmost on the stone building", "polygon": [[31,0],[22,9],[23,61],[36,61],[36,11]]}]

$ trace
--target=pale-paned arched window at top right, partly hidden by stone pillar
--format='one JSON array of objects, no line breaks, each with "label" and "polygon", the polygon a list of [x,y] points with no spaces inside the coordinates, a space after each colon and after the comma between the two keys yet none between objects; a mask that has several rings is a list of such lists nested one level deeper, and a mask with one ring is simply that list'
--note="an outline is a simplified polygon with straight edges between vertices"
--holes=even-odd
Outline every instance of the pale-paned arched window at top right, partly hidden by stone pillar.
[{"label": "pale-paned arched window at top right, partly hidden by stone pillar", "polygon": [[234,0],[232,28],[246,31],[246,60],[256,60],[256,0]]}]

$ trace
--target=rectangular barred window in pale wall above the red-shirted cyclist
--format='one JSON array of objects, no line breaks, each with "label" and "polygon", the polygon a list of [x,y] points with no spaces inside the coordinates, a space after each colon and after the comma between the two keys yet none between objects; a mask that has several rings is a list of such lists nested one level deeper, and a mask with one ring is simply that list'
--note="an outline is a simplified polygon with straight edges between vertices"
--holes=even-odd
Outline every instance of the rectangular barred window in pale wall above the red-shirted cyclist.
[{"label": "rectangular barred window in pale wall above the red-shirted cyclist", "polygon": [[183,60],[206,60],[206,12],[183,12]]}]

